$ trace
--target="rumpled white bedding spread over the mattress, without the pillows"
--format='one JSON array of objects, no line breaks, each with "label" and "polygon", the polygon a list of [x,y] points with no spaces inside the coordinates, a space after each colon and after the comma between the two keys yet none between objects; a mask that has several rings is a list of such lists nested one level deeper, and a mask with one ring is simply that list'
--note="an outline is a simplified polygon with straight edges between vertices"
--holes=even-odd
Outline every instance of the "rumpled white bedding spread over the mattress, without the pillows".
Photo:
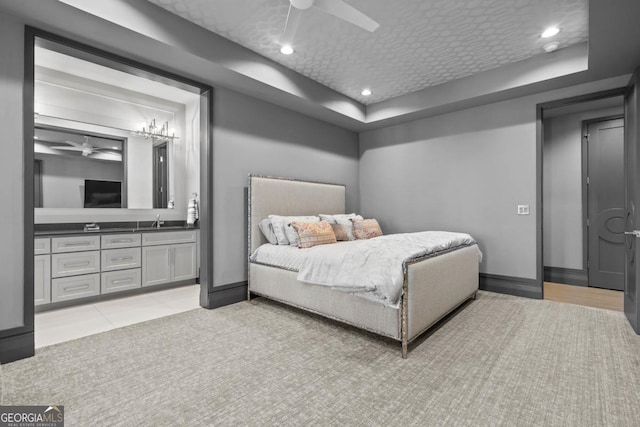
[{"label": "rumpled white bedding spread over the mattress, without the pillows", "polygon": [[[308,249],[267,244],[256,249],[250,259],[297,271],[301,282],[358,293],[397,307],[402,294],[404,261],[475,243],[465,233],[424,231]],[[479,250],[478,255],[481,256]]]}]

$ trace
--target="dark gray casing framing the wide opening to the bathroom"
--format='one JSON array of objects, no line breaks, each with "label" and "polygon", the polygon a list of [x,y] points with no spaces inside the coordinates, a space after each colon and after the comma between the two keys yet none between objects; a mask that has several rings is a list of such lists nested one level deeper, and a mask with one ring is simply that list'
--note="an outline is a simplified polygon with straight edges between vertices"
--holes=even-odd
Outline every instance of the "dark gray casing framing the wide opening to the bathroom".
[{"label": "dark gray casing framing the wide opening to the bathroom", "polygon": [[[55,48],[52,48],[55,46]],[[198,129],[199,137],[194,141],[198,144],[196,152],[200,153],[198,161],[199,185],[200,185],[200,238],[199,255],[204,260],[200,268],[200,284],[196,285],[195,295],[199,294],[200,306],[212,307],[210,292],[213,288],[213,265],[208,262],[213,257],[212,211],[213,200],[211,185],[213,182],[213,153],[212,147],[212,121],[213,121],[213,89],[188,78],[183,78],[146,64],[138,63],[131,58],[124,58],[78,43],[55,34],[41,31],[32,27],[26,27],[25,38],[25,67],[24,67],[24,288],[23,288],[23,314],[22,325],[1,331],[0,338],[8,341],[8,349],[3,352],[0,362],[6,363],[34,355],[34,129],[35,118],[48,119],[47,115],[35,114],[34,87],[35,87],[35,51],[36,47],[45,47],[61,54],[73,52],[78,58],[90,60],[99,65],[105,65],[115,70],[128,73],[132,76],[147,78],[154,82],[160,82],[186,91],[191,91],[197,96],[199,104]],[[58,49],[58,50],[56,50]],[[91,110],[96,112],[98,110]],[[81,120],[78,123],[82,123]],[[129,127],[121,129],[131,135]],[[46,168],[40,169],[40,175]],[[149,181],[151,174],[148,174]],[[132,179],[133,181],[133,179]],[[151,194],[149,195],[151,199]],[[86,222],[86,221],[84,221]],[[193,299],[193,298],[192,298]],[[172,298],[173,300],[173,298]],[[6,338],[8,337],[8,338]]]}]

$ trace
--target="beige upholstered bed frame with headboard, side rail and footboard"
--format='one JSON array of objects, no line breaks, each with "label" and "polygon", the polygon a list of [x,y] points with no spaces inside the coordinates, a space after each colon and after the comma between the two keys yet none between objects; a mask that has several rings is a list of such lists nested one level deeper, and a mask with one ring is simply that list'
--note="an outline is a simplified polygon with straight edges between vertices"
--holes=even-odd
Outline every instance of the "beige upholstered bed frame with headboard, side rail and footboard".
[{"label": "beige upholstered bed frame with headboard, side rail and footboard", "polygon": [[266,297],[392,338],[401,343],[406,358],[409,343],[476,297],[480,253],[476,244],[403,262],[402,292],[396,306],[302,283],[294,269],[254,262],[251,255],[268,244],[259,228],[261,220],[269,215],[346,213],[346,187],[249,175],[248,194],[249,299],[252,295]]}]

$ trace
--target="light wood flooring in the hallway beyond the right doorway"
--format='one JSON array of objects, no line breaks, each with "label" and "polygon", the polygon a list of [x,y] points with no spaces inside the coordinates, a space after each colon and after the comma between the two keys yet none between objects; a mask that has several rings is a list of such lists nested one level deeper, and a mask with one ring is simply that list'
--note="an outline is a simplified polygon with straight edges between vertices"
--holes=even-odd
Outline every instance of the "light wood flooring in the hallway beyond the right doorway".
[{"label": "light wood flooring in the hallway beyond the right doorway", "polygon": [[624,293],[622,291],[544,282],[544,299],[624,311]]}]

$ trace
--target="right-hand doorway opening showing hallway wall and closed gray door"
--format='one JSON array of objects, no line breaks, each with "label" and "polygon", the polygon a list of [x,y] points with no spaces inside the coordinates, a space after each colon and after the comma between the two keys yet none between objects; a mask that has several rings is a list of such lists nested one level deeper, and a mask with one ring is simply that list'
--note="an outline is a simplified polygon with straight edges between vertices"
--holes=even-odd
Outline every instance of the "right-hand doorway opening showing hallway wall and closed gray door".
[{"label": "right-hand doorway opening showing hallway wall and closed gray door", "polygon": [[558,101],[541,109],[545,289],[547,283],[555,283],[585,290],[621,290],[624,277],[621,91]]}]

